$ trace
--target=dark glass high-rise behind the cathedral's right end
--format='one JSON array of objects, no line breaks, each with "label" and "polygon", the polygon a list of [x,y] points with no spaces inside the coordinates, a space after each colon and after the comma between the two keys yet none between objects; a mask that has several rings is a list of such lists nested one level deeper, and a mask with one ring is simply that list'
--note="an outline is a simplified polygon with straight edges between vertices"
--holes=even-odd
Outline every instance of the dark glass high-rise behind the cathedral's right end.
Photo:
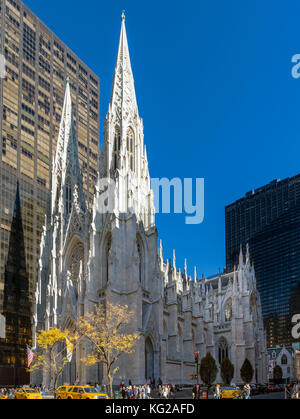
[{"label": "dark glass high-rise behind the cathedral's right end", "polygon": [[300,175],[248,192],[225,212],[227,269],[249,243],[268,346],[290,346],[300,314]]}]

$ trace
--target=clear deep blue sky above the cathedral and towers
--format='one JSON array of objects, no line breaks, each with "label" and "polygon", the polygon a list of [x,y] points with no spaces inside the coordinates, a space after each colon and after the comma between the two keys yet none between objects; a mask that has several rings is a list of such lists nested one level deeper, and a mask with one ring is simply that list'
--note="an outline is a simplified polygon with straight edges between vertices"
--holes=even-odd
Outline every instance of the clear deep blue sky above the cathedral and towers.
[{"label": "clear deep blue sky above the cathedral and towers", "polygon": [[[298,0],[25,0],[101,78],[107,112],[126,25],[152,177],[205,178],[205,220],[159,215],[166,257],[189,272],[225,265],[224,208],[300,172]],[[82,5],[84,4],[84,8]],[[102,126],[101,126],[102,133]]]}]

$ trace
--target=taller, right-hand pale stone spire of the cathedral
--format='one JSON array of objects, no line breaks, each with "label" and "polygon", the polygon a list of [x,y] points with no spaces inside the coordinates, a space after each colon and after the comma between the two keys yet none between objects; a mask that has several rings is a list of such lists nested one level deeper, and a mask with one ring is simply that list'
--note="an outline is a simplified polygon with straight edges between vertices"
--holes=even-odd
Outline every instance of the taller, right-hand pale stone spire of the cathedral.
[{"label": "taller, right-hand pale stone spire of the cathedral", "polygon": [[102,179],[113,179],[115,182],[112,212],[135,214],[145,229],[154,226],[154,198],[144,147],[143,121],[139,117],[135,94],[124,12],[111,100],[104,122],[104,151],[99,159],[99,195],[96,198],[99,212],[98,198],[102,193]]}]

